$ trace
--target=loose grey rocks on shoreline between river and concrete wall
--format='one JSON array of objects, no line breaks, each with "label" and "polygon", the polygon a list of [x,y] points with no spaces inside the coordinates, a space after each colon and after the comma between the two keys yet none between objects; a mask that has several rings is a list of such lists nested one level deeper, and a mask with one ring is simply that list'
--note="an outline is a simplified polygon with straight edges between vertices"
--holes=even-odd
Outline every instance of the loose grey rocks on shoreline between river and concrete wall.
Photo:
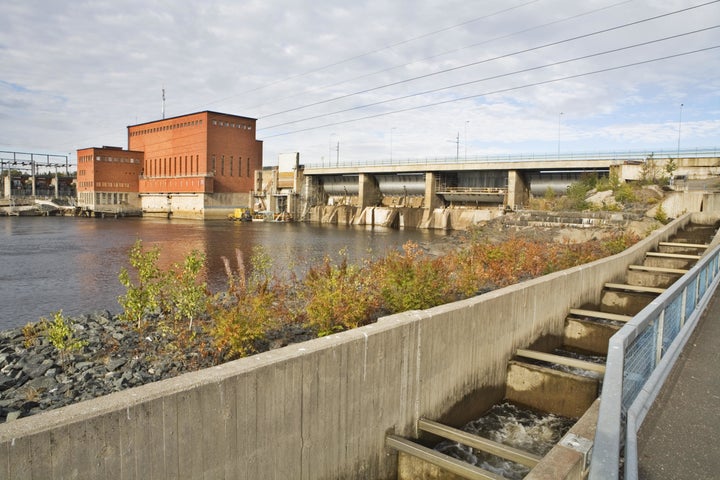
[{"label": "loose grey rocks on shoreline between river and concrete wall", "polygon": [[[0,332],[0,422],[60,408],[112,392],[176,377],[217,364],[211,339],[198,327],[189,348],[165,329],[140,333],[108,311],[69,319],[81,349],[63,353],[42,333],[22,327]],[[26,327],[27,328],[27,327]],[[316,332],[289,325],[269,332],[264,351],[309,340]]]}]

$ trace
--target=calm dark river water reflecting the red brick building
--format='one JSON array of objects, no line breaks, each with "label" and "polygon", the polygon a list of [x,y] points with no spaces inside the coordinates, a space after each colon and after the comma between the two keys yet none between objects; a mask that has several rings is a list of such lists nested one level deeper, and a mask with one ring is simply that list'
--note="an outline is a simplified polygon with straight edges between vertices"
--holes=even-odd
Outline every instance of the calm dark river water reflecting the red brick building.
[{"label": "calm dark river water reflecting the red brick building", "polygon": [[273,257],[280,274],[302,274],[309,265],[347,251],[351,261],[384,255],[408,240],[431,243],[443,232],[304,223],[235,223],[165,219],[0,217],[0,329],[37,321],[62,309],[66,315],[97,310],[118,313],[124,293],[118,272],[135,241],[160,247],[160,263],[182,261],[193,249],[207,256],[208,284],[225,285],[222,257],[235,266],[255,245]]}]

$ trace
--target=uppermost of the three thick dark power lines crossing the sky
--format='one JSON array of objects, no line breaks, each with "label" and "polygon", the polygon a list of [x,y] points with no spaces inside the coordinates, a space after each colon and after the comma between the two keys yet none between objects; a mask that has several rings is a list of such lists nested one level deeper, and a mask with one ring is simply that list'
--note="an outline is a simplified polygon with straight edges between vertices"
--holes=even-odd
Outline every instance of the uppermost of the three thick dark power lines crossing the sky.
[{"label": "uppermost of the three thick dark power lines crossing the sky", "polygon": [[[720,0],[712,0],[712,1],[710,1],[710,2],[706,2],[706,3],[700,4],[700,5],[695,5],[695,6],[692,6],[692,7],[687,7],[687,8],[683,8],[683,9],[680,9],[680,10],[676,10],[676,11],[674,11],[674,12],[668,12],[668,13],[664,13],[664,14],[661,14],[661,15],[656,15],[656,16],[649,17],[649,18],[646,18],[646,19],[643,19],[643,20],[636,20],[636,21],[634,21],[634,22],[629,22],[629,23],[625,23],[625,24],[618,25],[618,26],[615,26],[615,27],[605,28],[605,29],[602,29],[602,30],[596,30],[596,31],[591,32],[591,33],[586,33],[586,34],[583,34],[583,35],[577,35],[577,36],[570,37],[570,38],[567,38],[567,39],[564,39],[564,40],[558,40],[558,41],[555,41],[555,42],[550,42],[550,43],[546,43],[546,44],[543,44],[543,45],[539,45],[539,46],[535,46],[535,47],[531,47],[531,48],[526,48],[526,49],[523,49],[523,50],[518,50],[518,51],[515,51],[515,52],[512,52],[512,53],[507,53],[507,54],[504,54],[504,55],[499,55],[499,56],[496,56],[496,57],[491,57],[491,58],[487,58],[487,59],[484,59],[484,60],[479,60],[479,61],[477,61],[477,62],[471,62],[471,63],[467,63],[467,64],[464,64],[464,65],[459,65],[459,66],[457,66],[457,67],[446,68],[446,69],[439,70],[439,71],[436,71],[436,72],[427,73],[427,74],[424,74],[424,75],[419,75],[419,76],[416,76],[416,77],[411,77],[411,78],[399,80],[399,81],[396,81],[396,82],[386,83],[386,84],[384,84],[384,85],[379,85],[379,86],[377,86],[377,87],[367,88],[367,89],[364,89],[364,90],[359,90],[359,91],[356,91],[356,92],[353,92],[353,93],[348,93],[348,94],[345,94],[345,95],[340,95],[340,96],[333,97],[333,98],[330,98],[330,99],[321,100],[321,101],[318,101],[318,102],[313,102],[313,103],[310,103],[310,104],[307,104],[307,105],[302,105],[302,106],[299,106],[299,107],[295,107],[295,108],[283,110],[283,111],[280,111],[280,112],[271,113],[271,114],[269,114],[269,115],[264,115],[264,116],[262,116],[262,117],[259,117],[258,119],[259,119],[259,120],[263,120],[263,119],[266,119],[266,118],[269,118],[269,117],[274,117],[274,116],[282,115],[282,114],[285,114],[285,113],[295,112],[295,111],[298,111],[298,110],[304,110],[304,109],[306,109],[306,108],[315,107],[315,106],[318,106],[318,105],[323,105],[323,104],[326,104],[326,103],[330,103],[330,102],[334,102],[334,101],[337,101],[337,100],[341,100],[341,99],[353,97],[353,96],[356,96],[356,95],[361,95],[361,94],[363,94],[363,93],[370,93],[370,92],[374,92],[374,91],[377,91],[377,90],[381,90],[381,89],[383,89],[383,88],[388,88],[388,87],[392,87],[392,86],[402,85],[402,84],[405,84],[405,83],[413,82],[413,81],[415,81],[415,80],[420,80],[420,79],[424,79],[424,78],[429,78],[429,77],[433,77],[433,76],[436,76],[436,75],[440,75],[440,74],[443,74],[443,73],[448,73],[448,72],[452,72],[452,71],[456,71],[456,70],[461,70],[461,69],[463,69],[463,68],[478,66],[478,65],[481,65],[481,64],[484,64],[484,63],[492,62],[492,61],[495,61],[495,60],[500,60],[500,59],[503,59],[503,58],[508,58],[508,57],[515,56],[515,55],[519,55],[519,54],[522,54],[522,53],[529,53],[529,52],[533,52],[533,51],[540,50],[540,49],[543,49],[543,48],[548,48],[548,47],[552,47],[552,46],[562,45],[562,44],[564,44],[564,43],[572,42],[572,41],[575,41],[575,40],[580,40],[580,39],[583,39],[583,38],[589,38],[589,37],[592,37],[592,36],[595,36],[595,35],[600,35],[600,34],[603,34],[603,33],[608,33],[608,32],[612,32],[612,31],[615,31],[615,30],[620,30],[620,29],[622,29],[622,28],[627,28],[627,27],[631,27],[631,26],[640,25],[640,24],[642,24],[642,23],[650,22],[650,21],[657,20],[657,19],[660,19],[660,18],[665,18],[665,17],[668,17],[668,16],[677,15],[677,14],[679,14],[679,13],[684,13],[684,12],[687,12],[687,11],[690,11],[690,10],[693,10],[693,9],[696,9],[696,8],[701,8],[701,7],[704,7],[704,6],[707,6],[707,5],[711,5],[711,4],[717,3],[717,2],[719,2],[719,1],[720,1]],[[272,127],[267,127],[267,128],[272,128]],[[267,128],[263,127],[262,130],[266,130]]]}]

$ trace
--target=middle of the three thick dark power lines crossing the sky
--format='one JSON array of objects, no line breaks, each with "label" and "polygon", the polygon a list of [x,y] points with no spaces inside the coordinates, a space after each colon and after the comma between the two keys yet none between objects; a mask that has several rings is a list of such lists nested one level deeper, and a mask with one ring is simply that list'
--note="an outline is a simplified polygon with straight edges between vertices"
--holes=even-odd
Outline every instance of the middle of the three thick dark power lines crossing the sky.
[{"label": "middle of the three thick dark power lines crossing the sky", "polygon": [[485,81],[488,81],[488,80],[497,80],[497,79],[499,79],[499,78],[509,77],[509,76],[513,76],[513,75],[518,75],[518,74],[521,74],[521,73],[528,73],[528,72],[532,72],[532,71],[535,71],[535,70],[541,70],[541,69],[543,69],[543,68],[555,67],[555,66],[558,66],[558,65],[563,65],[563,64],[571,63],[571,62],[576,62],[576,61],[579,61],[579,60],[586,60],[586,59],[588,59],[588,58],[599,57],[599,56],[601,56],[601,55],[608,55],[608,54],[610,54],[610,53],[617,53],[617,52],[621,52],[621,51],[623,51],[623,50],[629,50],[629,49],[631,49],[631,48],[637,48],[637,47],[643,47],[643,46],[646,46],[646,45],[652,45],[652,44],[654,44],[654,43],[663,42],[663,41],[667,41],[667,40],[672,40],[672,39],[684,37],[684,36],[687,36],[687,35],[692,35],[692,34],[695,34],[695,33],[701,33],[701,32],[705,32],[705,31],[708,31],[708,30],[713,30],[713,29],[719,28],[719,27],[720,27],[720,25],[714,25],[714,26],[712,26],[712,27],[701,28],[701,29],[698,29],[698,30],[693,30],[693,31],[691,31],[691,32],[680,33],[680,34],[677,34],[677,35],[671,35],[671,36],[668,36],[668,37],[663,37],[663,38],[659,38],[659,39],[655,39],[655,40],[649,40],[649,41],[647,41],[647,42],[636,43],[636,44],[634,44],[634,45],[628,45],[628,46],[625,46],[625,47],[614,48],[614,49],[612,49],[612,50],[606,50],[606,51],[604,51],[604,52],[591,53],[591,54],[583,55],[583,56],[580,56],[580,57],[575,57],[575,58],[570,58],[570,59],[566,59],[566,60],[560,60],[560,61],[553,62],[553,63],[548,63],[548,64],[545,64],[545,65],[539,65],[539,66],[536,66],[536,67],[524,68],[524,69],[522,69],[522,70],[516,70],[516,71],[514,71],[514,72],[503,73],[503,74],[499,74],[499,75],[493,75],[493,76],[491,76],[491,77],[485,77],[485,78],[481,78],[481,79],[478,79],[478,80],[471,80],[471,81],[469,81],[469,82],[456,83],[456,84],[454,84],[454,85],[448,85],[448,86],[445,86],[445,87],[433,88],[433,89],[431,89],[431,90],[425,90],[425,91],[422,91],[422,92],[411,93],[411,94],[408,94],[408,95],[403,95],[403,96],[401,96],[401,97],[394,97],[394,98],[387,99],[387,100],[380,100],[380,101],[377,101],[377,102],[367,103],[367,104],[364,104],[364,105],[357,105],[357,106],[350,107],[350,108],[345,108],[345,109],[342,109],[342,110],[336,110],[336,111],[334,111],[334,112],[323,113],[323,114],[319,114],[319,115],[314,115],[314,116],[312,116],[312,117],[306,117],[306,118],[302,118],[302,119],[299,119],[299,120],[292,120],[292,121],[289,121],[289,122],[279,123],[279,124],[277,124],[277,125],[271,125],[271,126],[269,126],[269,127],[264,127],[262,130],[269,130],[269,129],[271,129],[271,128],[284,127],[285,125],[292,125],[292,124],[295,124],[295,123],[305,122],[305,121],[308,121],[308,120],[315,120],[315,119],[318,119],[318,118],[329,117],[330,115],[337,115],[337,114],[339,114],[339,113],[346,113],[346,112],[350,112],[350,111],[353,111],[353,110],[360,110],[360,109],[363,109],[363,108],[375,107],[375,106],[377,106],[377,105],[383,105],[383,104],[385,104],[385,103],[395,102],[395,101],[398,101],[398,100],[405,100],[405,99],[412,98],[412,97],[418,97],[418,96],[420,96],[420,95],[427,95],[427,94],[430,94],[430,93],[437,93],[437,92],[441,92],[441,91],[443,91],[443,90],[449,90],[449,89],[451,89],[451,88],[465,87],[465,86],[468,86],[468,85],[472,85],[472,84],[480,83],[480,82],[485,82]]}]

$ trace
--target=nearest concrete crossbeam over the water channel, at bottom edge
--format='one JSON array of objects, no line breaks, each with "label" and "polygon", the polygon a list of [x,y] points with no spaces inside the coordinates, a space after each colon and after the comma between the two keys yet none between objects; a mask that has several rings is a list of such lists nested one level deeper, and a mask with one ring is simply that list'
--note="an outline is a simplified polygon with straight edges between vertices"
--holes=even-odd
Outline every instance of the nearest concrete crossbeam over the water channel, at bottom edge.
[{"label": "nearest concrete crossbeam over the water channel, at bottom edge", "polygon": [[469,480],[504,480],[504,477],[500,475],[470,465],[462,460],[437,452],[397,435],[387,435],[385,437],[385,445],[400,452],[398,457],[398,480],[415,478],[412,465],[408,465],[408,463],[412,462],[408,462],[410,459],[403,455],[440,467],[443,471],[458,475],[460,478]]}]

